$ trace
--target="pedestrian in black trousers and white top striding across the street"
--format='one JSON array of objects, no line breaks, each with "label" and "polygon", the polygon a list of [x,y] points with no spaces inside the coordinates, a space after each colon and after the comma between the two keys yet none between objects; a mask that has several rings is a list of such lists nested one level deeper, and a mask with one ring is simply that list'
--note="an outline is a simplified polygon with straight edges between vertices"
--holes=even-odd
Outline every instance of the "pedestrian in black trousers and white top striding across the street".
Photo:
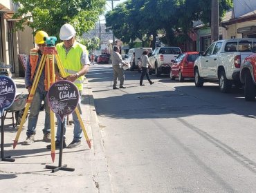
[{"label": "pedestrian in black trousers and white top striding across the street", "polygon": [[150,77],[149,77],[149,68],[152,68],[151,63],[149,62],[149,57],[147,56],[149,54],[148,50],[144,50],[143,51],[143,56],[140,59],[141,62],[141,76],[140,76],[140,85],[145,85],[143,84],[143,79],[146,75],[147,80],[149,81],[149,83],[152,85],[154,82],[151,81]]}]

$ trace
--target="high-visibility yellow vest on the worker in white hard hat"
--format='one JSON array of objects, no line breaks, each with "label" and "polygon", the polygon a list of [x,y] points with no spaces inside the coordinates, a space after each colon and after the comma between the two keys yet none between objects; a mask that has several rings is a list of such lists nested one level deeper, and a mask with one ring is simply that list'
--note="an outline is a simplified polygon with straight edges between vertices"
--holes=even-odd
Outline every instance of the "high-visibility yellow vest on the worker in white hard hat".
[{"label": "high-visibility yellow vest on the worker in white hard hat", "polygon": [[[73,47],[68,51],[68,54],[66,54],[66,50],[63,46],[64,46],[63,42],[58,43],[56,45],[56,49],[57,49],[58,55],[60,56],[60,60],[62,61],[62,65],[66,72],[66,75],[75,74],[79,72],[83,66],[80,59],[81,59],[82,52],[86,51],[85,45],[75,42]],[[83,83],[84,83],[84,76],[77,78],[74,81],[74,83],[77,86],[78,90],[82,90]]]}]

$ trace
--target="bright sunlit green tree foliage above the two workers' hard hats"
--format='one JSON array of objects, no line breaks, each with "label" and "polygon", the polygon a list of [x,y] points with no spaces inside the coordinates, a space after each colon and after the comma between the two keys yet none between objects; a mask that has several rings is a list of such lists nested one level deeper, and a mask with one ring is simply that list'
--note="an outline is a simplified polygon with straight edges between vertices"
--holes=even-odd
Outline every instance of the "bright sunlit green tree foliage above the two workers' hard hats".
[{"label": "bright sunlit green tree foliage above the two workers' hard hats", "polygon": [[71,23],[77,35],[91,30],[104,12],[105,0],[12,0],[21,3],[14,18],[21,18],[16,28],[29,26],[35,31],[44,30],[49,36],[59,37],[64,23]]}]

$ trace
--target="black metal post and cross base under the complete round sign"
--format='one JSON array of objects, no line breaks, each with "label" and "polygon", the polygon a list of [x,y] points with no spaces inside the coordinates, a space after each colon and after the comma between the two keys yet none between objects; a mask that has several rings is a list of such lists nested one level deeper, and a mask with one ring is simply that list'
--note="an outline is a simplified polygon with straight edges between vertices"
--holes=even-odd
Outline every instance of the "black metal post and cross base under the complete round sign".
[{"label": "black metal post and cross base under the complete round sign", "polygon": [[63,128],[64,128],[64,121],[62,122],[62,127],[60,130],[60,156],[59,156],[59,165],[53,166],[53,165],[46,165],[46,169],[52,169],[52,172],[57,172],[59,170],[65,170],[69,172],[75,171],[75,168],[66,167],[67,165],[62,165],[62,150],[63,150]]}]

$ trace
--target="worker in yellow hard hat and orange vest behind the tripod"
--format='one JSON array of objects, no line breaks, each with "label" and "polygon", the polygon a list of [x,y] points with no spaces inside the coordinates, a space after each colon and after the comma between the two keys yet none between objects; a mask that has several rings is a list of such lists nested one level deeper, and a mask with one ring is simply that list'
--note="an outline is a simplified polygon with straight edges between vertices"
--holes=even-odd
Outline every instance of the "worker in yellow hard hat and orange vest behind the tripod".
[{"label": "worker in yellow hard hat and orange vest behind the tripod", "polygon": [[[44,52],[44,48],[46,46],[44,42],[44,37],[48,37],[48,34],[44,31],[39,31],[35,34],[35,43],[37,44],[37,48],[33,48],[30,50],[30,55],[28,59],[28,63],[26,65],[25,72],[25,86],[30,92],[33,81],[35,78],[35,74],[37,73],[37,69],[39,68],[39,63],[42,59],[42,54]],[[51,142],[51,126],[50,126],[50,109],[48,106],[47,100],[47,69],[46,66],[41,74],[39,82],[37,84],[37,88],[35,90],[35,94],[33,96],[33,101],[30,105],[30,114],[28,116],[28,129],[26,132],[27,138],[24,141],[23,145],[30,145],[35,141],[35,128],[37,126],[37,120],[39,111],[42,106],[42,101],[44,101],[45,108],[45,119],[44,119],[44,137],[43,141]]]}]

